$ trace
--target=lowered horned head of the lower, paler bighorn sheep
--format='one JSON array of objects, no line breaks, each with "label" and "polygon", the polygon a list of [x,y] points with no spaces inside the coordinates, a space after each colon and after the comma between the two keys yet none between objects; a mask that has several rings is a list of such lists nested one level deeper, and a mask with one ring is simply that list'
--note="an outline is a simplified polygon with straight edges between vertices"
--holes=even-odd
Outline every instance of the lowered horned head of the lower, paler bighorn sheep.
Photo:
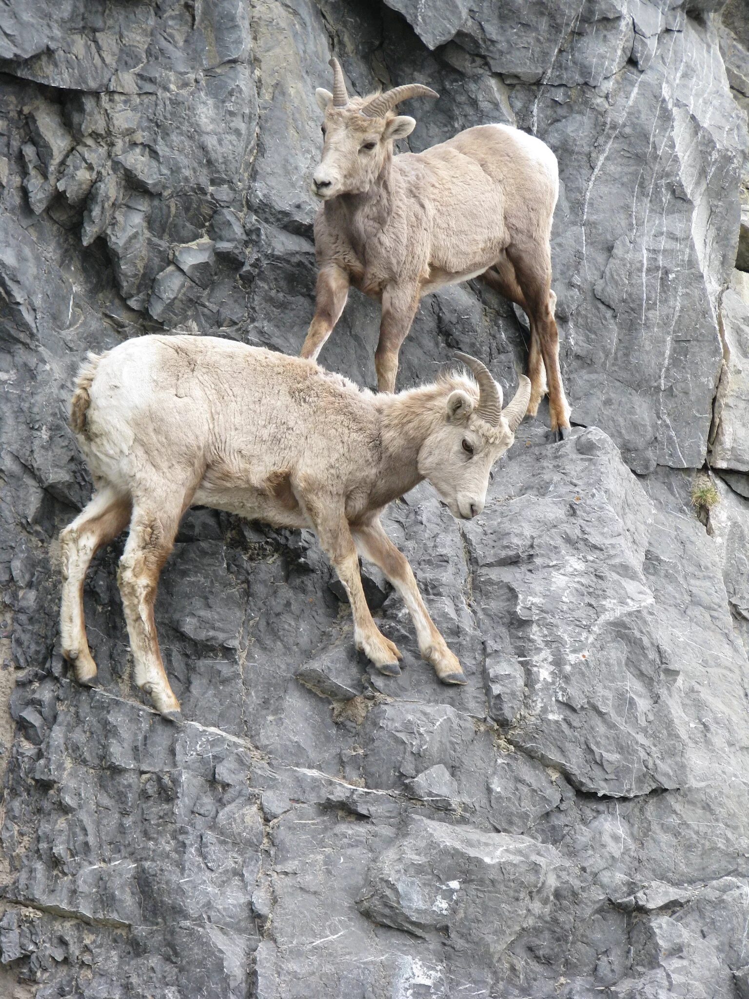
[{"label": "lowered horned head of the lower, paler bighorn sheep", "polygon": [[515,439],[528,408],[530,382],[521,375],[515,395],[502,409],[502,390],[489,370],[467,354],[456,357],[475,382],[451,380],[456,387],[446,397],[442,420],[421,446],[418,471],[453,516],[468,520],[483,509],[491,468]]}]

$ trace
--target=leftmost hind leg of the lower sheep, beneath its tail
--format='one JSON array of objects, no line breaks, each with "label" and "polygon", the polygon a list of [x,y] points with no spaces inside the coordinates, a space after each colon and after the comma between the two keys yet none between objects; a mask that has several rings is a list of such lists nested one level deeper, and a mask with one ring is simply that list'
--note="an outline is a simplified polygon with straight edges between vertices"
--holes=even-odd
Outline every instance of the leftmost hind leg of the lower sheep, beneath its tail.
[{"label": "leftmost hind leg of the lower sheep, beneath its tail", "polygon": [[96,663],[86,640],[83,614],[83,584],[91,559],[125,529],[130,519],[130,500],[105,487],[60,534],[63,585],[60,634],[63,655],[73,664],[79,683],[90,685]]}]

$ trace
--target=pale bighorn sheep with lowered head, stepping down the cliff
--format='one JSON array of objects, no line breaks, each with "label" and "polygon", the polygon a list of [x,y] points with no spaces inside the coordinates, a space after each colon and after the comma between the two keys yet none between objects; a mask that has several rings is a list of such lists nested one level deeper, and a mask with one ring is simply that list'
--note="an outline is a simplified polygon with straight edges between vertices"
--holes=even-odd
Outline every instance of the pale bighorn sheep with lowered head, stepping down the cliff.
[{"label": "pale bighorn sheep with lowered head, stepping down the cliff", "polygon": [[367,606],[361,552],[402,596],[421,655],[439,679],[464,682],[408,562],[379,523],[387,503],[423,479],[456,517],[483,508],[491,466],[512,444],[530,383],[521,376],[502,410],[488,370],[457,357],[475,381],[451,375],[374,395],[311,361],[215,337],[140,337],[91,355],[78,377],[71,426],[96,494],[61,535],[62,645],[77,680],[90,684],[96,676],[83,618],[89,563],[130,523],[118,581],[135,681],[165,717],[180,717],[154,600],[180,518],[197,503],[315,530],[349,594],[357,647],[394,674],[400,653]]}]

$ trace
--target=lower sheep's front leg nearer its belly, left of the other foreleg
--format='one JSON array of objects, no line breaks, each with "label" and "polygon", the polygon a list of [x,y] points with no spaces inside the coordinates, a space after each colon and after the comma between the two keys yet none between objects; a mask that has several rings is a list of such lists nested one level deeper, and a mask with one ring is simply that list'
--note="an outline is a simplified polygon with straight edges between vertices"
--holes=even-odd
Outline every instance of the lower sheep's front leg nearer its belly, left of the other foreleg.
[{"label": "lower sheep's front leg nearer its belly, left of the other foreleg", "polygon": [[333,498],[306,497],[302,504],[315,525],[320,543],[331,559],[349,595],[354,615],[354,642],[381,673],[396,676],[401,658],[397,646],[385,638],[367,605],[359,571],[359,554],[343,503]]}]

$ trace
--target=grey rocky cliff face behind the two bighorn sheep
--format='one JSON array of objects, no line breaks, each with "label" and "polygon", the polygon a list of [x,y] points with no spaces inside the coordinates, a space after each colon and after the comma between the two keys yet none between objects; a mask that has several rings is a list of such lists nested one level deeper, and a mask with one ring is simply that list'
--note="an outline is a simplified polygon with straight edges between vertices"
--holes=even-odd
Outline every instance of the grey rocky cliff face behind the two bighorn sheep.
[{"label": "grey rocky cliff face behind the two bighorn sheep", "polygon": [[[720,6],[0,12],[3,997],[749,996],[749,21]],[[99,687],[61,660],[55,537],[90,493],[67,402],[88,350],[147,331],[299,350],[332,51],[360,93],[440,93],[414,151],[505,121],[556,153],[579,429],[526,422],[467,526],[426,487],[388,514],[463,688],[376,573],[398,677],[311,535],[190,511],[157,608],[175,727],[131,683],[122,541],[86,590]],[[377,320],[353,293],[322,362],[373,384]],[[513,386],[523,322],[445,289],[400,385],[459,348]]]}]

